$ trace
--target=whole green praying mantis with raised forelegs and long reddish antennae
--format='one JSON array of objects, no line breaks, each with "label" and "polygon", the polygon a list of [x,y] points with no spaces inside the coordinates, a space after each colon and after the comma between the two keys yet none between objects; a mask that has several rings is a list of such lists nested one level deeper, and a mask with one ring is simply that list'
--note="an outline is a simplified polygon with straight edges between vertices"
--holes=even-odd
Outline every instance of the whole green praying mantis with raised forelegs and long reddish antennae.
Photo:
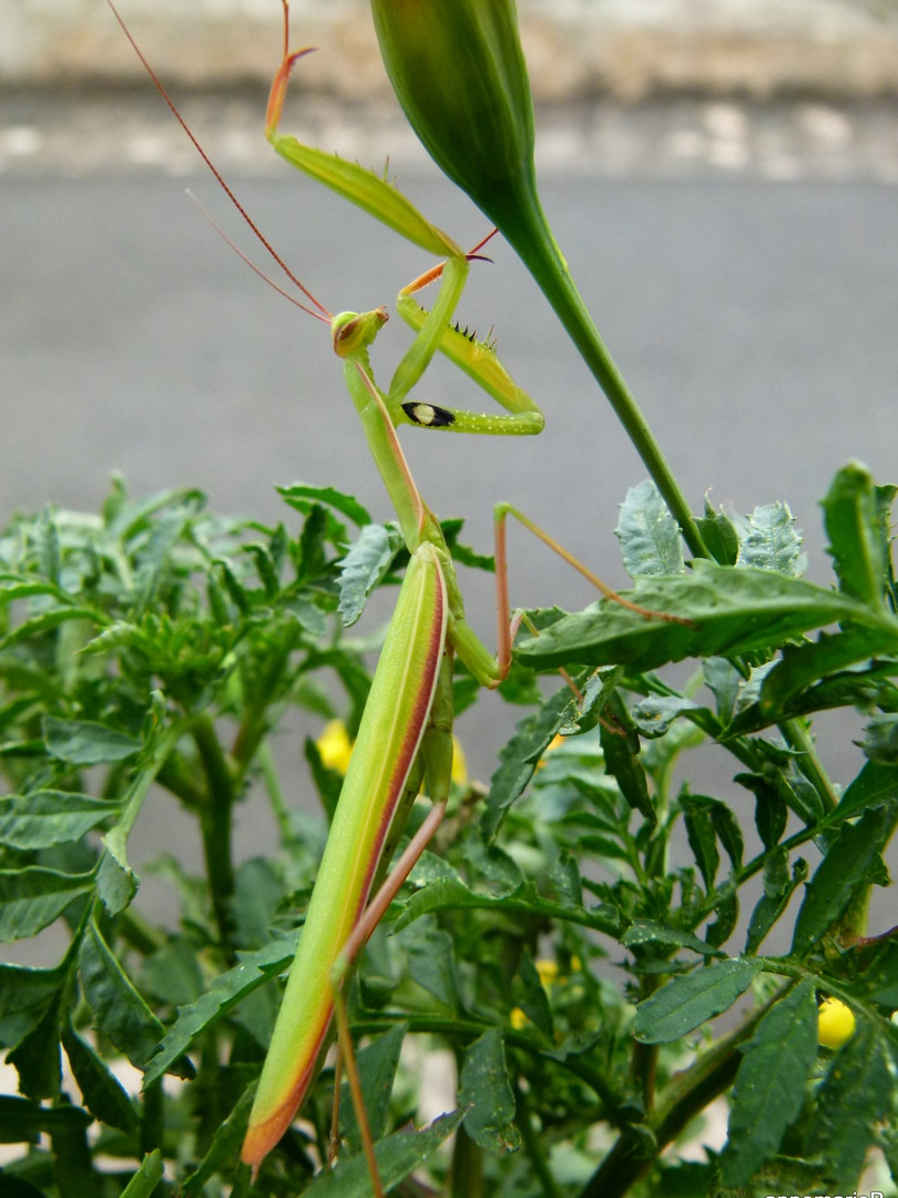
[{"label": "whole green praying mantis with raised forelegs and long reddish antennae", "polygon": [[[122,24],[111,0],[109,4]],[[411,555],[249,1117],[241,1155],[254,1170],[290,1126],[314,1083],[330,1042],[334,1014],[353,1084],[341,987],[354,956],[407,878],[445,810],[453,757],[454,660],[457,657],[487,688],[497,686],[509,670],[516,621],[509,618],[506,518],[516,518],[558,547],[510,504],[496,506],[498,649],[496,654],[491,653],[466,621],[449,547],[436,516],[412,478],[396,429],[402,424],[413,424],[492,436],[535,435],[544,426],[544,417],[534,400],[514,382],[491,345],[451,323],[468,264],[478,256],[484,243],[465,253],[384,179],[333,155],[304,146],[280,132],[290,75],[307,53],[291,52],[287,0],[283,0],[283,8],[284,50],[272,85],[266,122],[266,134],[273,149],[291,165],[437,258],[438,265],[399,295],[398,311],[412,327],[414,339],[388,387],[381,388],[375,381],[370,347],[387,320],[386,309],[333,315],[290,273],[208,159],[122,24],[153,81],[219,183],[308,301],[293,302],[329,323],[334,351],[342,362],[346,388]],[[426,311],[415,296],[429,284],[438,284],[439,290],[432,308]],[[413,399],[413,389],[437,352],[468,374],[500,411],[478,413]],[[572,562],[566,553],[563,556]],[[572,564],[603,594],[625,606],[633,606],[647,617],[657,615],[626,603],[585,568]],[[431,810],[384,881],[407,815],[421,789],[430,798]],[[357,1103],[360,1102],[358,1094],[353,1097]],[[370,1137],[365,1142],[365,1151],[374,1190],[380,1196],[383,1190],[377,1180]]]}]

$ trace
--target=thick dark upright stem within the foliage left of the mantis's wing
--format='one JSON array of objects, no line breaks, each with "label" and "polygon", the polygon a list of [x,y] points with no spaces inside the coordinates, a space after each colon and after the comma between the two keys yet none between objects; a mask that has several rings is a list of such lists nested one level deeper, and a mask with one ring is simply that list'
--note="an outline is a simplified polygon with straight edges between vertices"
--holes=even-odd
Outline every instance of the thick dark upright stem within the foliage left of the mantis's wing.
[{"label": "thick dark upright stem within the foliage left of the mantis's wing", "polygon": [[230,900],[233,895],[233,781],[210,716],[199,715],[190,731],[206,773],[207,797],[200,811],[200,828],[212,912],[225,954],[232,958]]}]

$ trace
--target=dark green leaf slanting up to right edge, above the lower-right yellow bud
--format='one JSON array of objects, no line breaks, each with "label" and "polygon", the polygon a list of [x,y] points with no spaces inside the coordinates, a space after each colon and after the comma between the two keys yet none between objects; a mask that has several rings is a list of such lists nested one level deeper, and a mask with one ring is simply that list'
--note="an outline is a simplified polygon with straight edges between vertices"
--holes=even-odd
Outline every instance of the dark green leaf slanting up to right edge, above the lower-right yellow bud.
[{"label": "dark green leaf slanting up to right edge, above the lower-right yellow bud", "polygon": [[868,810],[856,824],[843,824],[807,885],[805,901],[795,921],[791,951],[805,954],[842,915],[855,890],[869,871],[894,827],[888,806]]}]

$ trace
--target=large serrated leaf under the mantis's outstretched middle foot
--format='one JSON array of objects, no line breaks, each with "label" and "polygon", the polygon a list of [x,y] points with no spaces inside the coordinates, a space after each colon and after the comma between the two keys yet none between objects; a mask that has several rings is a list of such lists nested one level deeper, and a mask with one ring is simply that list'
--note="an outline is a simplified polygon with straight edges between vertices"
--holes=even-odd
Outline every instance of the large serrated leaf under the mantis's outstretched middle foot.
[{"label": "large serrated leaf under the mantis's outstretched middle foot", "polygon": [[649,611],[688,623],[642,616],[602,600],[542,628],[539,636],[520,640],[518,659],[540,670],[580,662],[645,671],[687,657],[770,651],[811,629],[853,622],[878,631],[881,652],[898,651],[898,621],[771,570],[699,559],[687,574],[638,579],[623,594]]}]

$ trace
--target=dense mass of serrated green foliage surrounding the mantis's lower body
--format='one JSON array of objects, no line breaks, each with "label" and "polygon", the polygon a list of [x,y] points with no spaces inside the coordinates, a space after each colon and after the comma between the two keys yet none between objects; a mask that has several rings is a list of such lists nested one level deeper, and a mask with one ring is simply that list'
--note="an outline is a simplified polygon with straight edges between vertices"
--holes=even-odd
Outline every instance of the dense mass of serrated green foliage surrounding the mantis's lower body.
[{"label": "dense mass of serrated green foliage surrounding the mantis's lower body", "polygon": [[[359,1067],[386,1179],[443,1178],[438,1145],[461,1120],[451,1167],[490,1192],[667,1192],[686,1174],[659,1152],[720,1094],[729,1138],[682,1192],[762,1178],[773,1192],[796,1160],[805,1190],[845,1186],[880,1139],[893,1157],[881,1127],[896,1097],[898,954],[863,924],[898,817],[891,494],[856,465],[836,479],[825,519],[842,564],[827,591],[796,577],[783,504],[733,526],[733,564],[684,569],[643,485],[618,530],[625,559],[648,571],[633,594],[688,623],[607,601],[583,617],[533,613],[539,635],[522,634],[521,655],[565,665],[582,697],[557,683],[523,715],[479,818],[477,792],[457,787],[437,852],[353,990],[354,1027],[378,1033]],[[254,1184],[237,1164],[322,836],[293,813],[299,787],[278,780],[269,738],[293,704],[352,720],[368,668],[341,597],[359,609],[402,565],[350,497],[285,496],[295,531],[214,518],[195,492],[135,502],[116,483],[99,518],[47,509],[0,539],[0,931],[28,942],[56,925],[67,944],[51,968],[0,967],[0,1042],[19,1078],[0,1125],[23,1145],[4,1178],[49,1198],[63,1191],[29,1148],[41,1133],[101,1198],[165,1192],[163,1161],[186,1196],[233,1179],[245,1194],[368,1192],[346,1095],[345,1160],[311,1181],[327,1070],[311,1130],[291,1130]],[[675,573],[657,571],[662,558]],[[829,652],[845,639],[850,649]],[[702,665],[686,691],[657,672],[684,654]],[[842,787],[811,739],[813,712],[836,701],[869,721],[864,763]],[[733,786],[674,788],[674,764],[711,745],[732,758]],[[269,806],[272,859],[233,859],[245,801]],[[190,858],[164,863],[182,907],[174,938],[144,913],[128,861],[134,827],[165,804],[202,846],[198,873]],[[790,949],[762,956],[781,921]],[[837,1052],[817,1043],[825,994],[857,1019]],[[400,1057],[409,1039],[449,1049],[457,1070],[457,1114],[421,1132],[404,1129],[419,1079]],[[91,1164],[93,1127],[117,1172]]]}]

